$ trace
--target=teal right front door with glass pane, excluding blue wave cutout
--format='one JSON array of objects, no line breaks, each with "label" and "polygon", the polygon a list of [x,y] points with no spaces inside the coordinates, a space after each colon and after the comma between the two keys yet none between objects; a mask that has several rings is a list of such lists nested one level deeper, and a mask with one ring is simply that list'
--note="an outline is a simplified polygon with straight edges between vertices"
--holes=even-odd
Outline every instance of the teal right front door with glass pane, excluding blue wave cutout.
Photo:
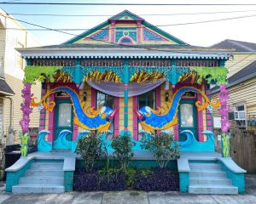
[{"label": "teal right front door with glass pane, excluding blue wave cutout", "polygon": [[195,100],[180,100],[178,107],[178,133],[179,140],[186,140],[186,136],[181,134],[183,130],[190,130],[198,139],[197,131],[197,110],[195,107]]}]

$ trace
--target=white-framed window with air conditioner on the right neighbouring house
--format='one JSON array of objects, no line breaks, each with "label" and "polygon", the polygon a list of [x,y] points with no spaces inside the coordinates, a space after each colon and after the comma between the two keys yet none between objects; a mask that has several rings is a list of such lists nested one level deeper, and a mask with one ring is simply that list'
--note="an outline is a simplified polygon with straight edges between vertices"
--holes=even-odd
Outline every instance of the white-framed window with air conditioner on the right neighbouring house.
[{"label": "white-framed window with air conditioner on the right neighbouring house", "polygon": [[245,103],[234,105],[234,116],[238,127],[246,127],[247,116]]}]

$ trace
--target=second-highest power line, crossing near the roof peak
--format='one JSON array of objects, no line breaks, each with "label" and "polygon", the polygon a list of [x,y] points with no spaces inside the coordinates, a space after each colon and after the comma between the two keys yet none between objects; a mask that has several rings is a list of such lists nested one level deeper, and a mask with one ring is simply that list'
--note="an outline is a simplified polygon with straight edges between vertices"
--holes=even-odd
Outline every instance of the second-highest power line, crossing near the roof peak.
[{"label": "second-highest power line, crossing near the roof peak", "polygon": [[[234,14],[253,12],[256,10],[236,10],[236,11],[217,11],[217,12],[200,12],[200,13],[176,13],[176,14],[138,14],[140,16],[172,16],[172,15],[198,15],[198,14]],[[12,15],[34,15],[34,16],[61,16],[61,17],[111,17],[113,15],[108,14],[20,14],[11,13]]]}]

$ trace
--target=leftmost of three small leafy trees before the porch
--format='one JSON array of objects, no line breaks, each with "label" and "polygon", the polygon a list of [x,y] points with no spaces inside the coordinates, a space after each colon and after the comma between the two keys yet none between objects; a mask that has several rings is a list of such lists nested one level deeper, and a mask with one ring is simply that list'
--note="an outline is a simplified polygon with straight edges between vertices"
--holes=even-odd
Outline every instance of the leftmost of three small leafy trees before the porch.
[{"label": "leftmost of three small leafy trees before the porch", "polygon": [[104,155],[102,139],[96,133],[87,133],[79,139],[75,153],[84,159],[86,171],[91,171],[96,161]]}]

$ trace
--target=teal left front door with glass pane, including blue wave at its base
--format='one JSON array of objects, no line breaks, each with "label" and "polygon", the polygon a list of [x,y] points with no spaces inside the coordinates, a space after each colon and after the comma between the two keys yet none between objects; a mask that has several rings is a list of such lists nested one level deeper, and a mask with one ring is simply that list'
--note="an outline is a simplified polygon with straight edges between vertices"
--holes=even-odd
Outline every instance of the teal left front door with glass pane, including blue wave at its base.
[{"label": "teal left front door with glass pane, including blue wave at its base", "polygon": [[55,100],[55,150],[71,150],[73,136],[73,105],[70,99]]}]

